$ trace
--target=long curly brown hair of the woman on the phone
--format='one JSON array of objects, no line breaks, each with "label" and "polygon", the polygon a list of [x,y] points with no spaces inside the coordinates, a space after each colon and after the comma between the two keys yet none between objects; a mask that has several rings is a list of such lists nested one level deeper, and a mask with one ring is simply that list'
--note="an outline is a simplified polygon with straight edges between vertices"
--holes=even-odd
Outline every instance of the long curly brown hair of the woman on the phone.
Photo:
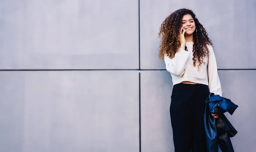
[{"label": "long curly brown hair of the woman on the phone", "polygon": [[[160,27],[158,37],[160,38],[160,46],[158,56],[160,59],[164,59],[164,54],[167,54],[171,59],[175,56],[175,53],[180,48],[180,28],[182,27],[183,15],[190,14],[195,21],[195,31],[193,33],[194,45],[193,45],[193,65],[199,62],[198,69],[204,62],[204,57],[209,56],[209,49],[207,45],[212,44],[212,40],[209,39],[204,26],[195,17],[192,10],[178,9],[170,14],[163,21]],[[185,47],[187,50],[187,48]]]}]

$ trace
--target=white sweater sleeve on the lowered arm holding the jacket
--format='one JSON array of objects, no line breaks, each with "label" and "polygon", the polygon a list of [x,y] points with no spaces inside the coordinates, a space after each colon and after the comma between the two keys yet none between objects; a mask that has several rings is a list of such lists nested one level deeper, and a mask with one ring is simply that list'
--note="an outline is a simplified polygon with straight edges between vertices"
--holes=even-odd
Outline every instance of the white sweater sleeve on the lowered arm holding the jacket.
[{"label": "white sweater sleeve on the lowered arm holding the jacket", "polygon": [[212,46],[209,46],[208,79],[210,92],[222,96],[221,82],[218,76],[217,63]]}]

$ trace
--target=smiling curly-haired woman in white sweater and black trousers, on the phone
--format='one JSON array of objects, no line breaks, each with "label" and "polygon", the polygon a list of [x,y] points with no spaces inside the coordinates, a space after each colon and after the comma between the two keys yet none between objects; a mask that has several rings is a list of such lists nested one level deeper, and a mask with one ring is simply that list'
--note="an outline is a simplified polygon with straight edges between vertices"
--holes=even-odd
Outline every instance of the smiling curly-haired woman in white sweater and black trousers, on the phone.
[{"label": "smiling curly-haired woman in white sweater and black trousers, on the phone", "polygon": [[159,37],[158,55],[173,82],[170,116],[175,152],[205,152],[204,101],[209,92],[222,95],[212,41],[189,9],[166,17]]}]

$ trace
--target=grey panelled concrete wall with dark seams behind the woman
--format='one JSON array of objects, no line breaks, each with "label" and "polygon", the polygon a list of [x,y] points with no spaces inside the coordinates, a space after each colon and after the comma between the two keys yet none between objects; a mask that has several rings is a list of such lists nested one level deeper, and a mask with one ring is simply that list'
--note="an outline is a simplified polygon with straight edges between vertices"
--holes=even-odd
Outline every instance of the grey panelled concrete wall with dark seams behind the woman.
[{"label": "grey panelled concrete wall with dark seams behind the woman", "polygon": [[157,32],[192,9],[255,152],[256,0],[0,0],[0,152],[174,152]]}]

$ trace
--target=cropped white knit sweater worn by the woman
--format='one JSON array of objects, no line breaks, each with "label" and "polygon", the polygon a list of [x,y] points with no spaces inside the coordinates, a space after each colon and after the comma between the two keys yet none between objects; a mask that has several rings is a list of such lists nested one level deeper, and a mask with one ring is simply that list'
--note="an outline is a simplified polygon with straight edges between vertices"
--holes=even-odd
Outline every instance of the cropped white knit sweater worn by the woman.
[{"label": "cropped white knit sweater worn by the woman", "polygon": [[198,62],[193,66],[193,42],[186,42],[188,51],[180,49],[174,58],[165,54],[166,69],[172,75],[173,86],[183,81],[191,81],[209,86],[209,91],[222,96],[221,83],[218,77],[217,64],[212,46],[209,48],[209,57],[204,57],[204,63],[198,70]]}]

